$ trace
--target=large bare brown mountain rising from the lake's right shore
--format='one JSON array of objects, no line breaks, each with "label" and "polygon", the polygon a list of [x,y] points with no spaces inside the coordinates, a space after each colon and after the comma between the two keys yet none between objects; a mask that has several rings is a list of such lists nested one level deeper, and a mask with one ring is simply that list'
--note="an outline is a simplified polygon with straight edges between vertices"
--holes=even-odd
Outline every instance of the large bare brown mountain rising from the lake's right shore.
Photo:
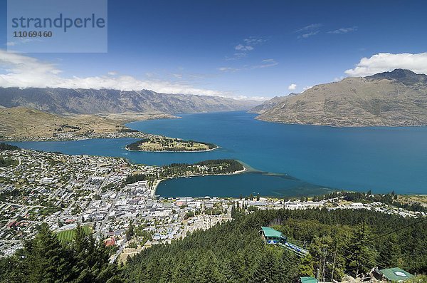
[{"label": "large bare brown mountain rising from the lake's right shore", "polygon": [[396,69],[344,78],[285,96],[257,119],[332,126],[427,125],[427,76]]}]

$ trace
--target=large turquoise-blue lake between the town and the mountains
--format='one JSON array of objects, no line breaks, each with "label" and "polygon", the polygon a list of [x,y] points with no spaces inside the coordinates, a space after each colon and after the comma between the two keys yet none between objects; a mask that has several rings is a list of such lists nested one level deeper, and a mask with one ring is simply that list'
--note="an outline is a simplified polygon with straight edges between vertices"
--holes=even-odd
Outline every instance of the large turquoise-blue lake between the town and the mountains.
[{"label": "large turquoise-blue lake between the town and the mountains", "polygon": [[[169,196],[314,195],[325,187],[427,193],[427,127],[332,128],[255,120],[244,112],[182,114],[181,119],[129,123],[147,133],[215,143],[206,153],[143,153],[124,149],[135,139],[13,143],[22,148],[67,154],[120,156],[133,163],[164,165],[233,158],[257,170],[162,182]],[[292,177],[291,177],[292,176]],[[255,193],[254,193],[255,192]]]}]

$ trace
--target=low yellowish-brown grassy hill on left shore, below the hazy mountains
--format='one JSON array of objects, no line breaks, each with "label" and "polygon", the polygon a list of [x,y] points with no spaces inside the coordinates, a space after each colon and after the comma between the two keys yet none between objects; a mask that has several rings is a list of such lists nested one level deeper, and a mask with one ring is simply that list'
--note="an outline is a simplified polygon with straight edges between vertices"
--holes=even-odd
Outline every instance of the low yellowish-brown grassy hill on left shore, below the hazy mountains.
[{"label": "low yellowish-brown grassy hill on left shore, below the hazy mountains", "polygon": [[115,120],[96,115],[60,116],[31,108],[0,109],[0,136],[11,140],[40,140],[70,133],[120,133],[129,130]]}]

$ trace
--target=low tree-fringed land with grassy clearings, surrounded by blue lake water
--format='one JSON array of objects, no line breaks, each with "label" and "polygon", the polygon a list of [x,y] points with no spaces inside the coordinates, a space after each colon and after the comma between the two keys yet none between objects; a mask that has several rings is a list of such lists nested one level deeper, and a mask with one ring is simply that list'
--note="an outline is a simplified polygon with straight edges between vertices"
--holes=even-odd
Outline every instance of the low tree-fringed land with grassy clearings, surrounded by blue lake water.
[{"label": "low tree-fringed land with grassy clearings, surrounded by blue lake water", "polygon": [[180,138],[154,136],[138,140],[126,145],[127,150],[155,151],[155,152],[201,152],[218,148],[213,143],[202,143]]}]

